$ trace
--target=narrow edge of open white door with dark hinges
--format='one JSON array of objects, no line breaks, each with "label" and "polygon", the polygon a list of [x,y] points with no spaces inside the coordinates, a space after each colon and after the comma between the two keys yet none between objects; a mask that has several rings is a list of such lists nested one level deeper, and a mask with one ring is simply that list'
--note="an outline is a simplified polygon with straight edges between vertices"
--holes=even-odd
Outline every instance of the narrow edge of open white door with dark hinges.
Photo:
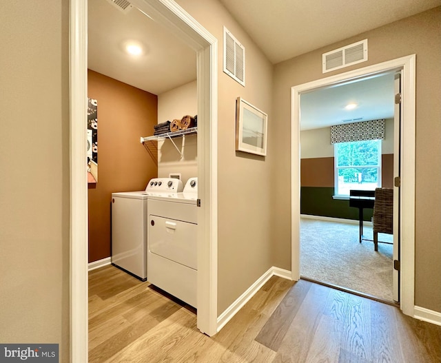
[{"label": "narrow edge of open white door with dark hinges", "polygon": [[395,109],[393,116],[393,300],[400,301],[400,169],[401,169],[401,71],[395,74]]}]

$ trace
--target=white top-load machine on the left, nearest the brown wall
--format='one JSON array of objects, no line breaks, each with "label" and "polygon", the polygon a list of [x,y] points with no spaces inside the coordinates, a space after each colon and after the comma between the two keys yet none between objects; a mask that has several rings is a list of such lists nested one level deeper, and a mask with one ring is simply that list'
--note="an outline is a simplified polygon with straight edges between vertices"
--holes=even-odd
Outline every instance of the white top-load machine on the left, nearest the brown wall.
[{"label": "white top-load machine on the left, nearest the brown wall", "polygon": [[147,198],[182,190],[181,180],[153,178],[145,190],[112,193],[112,265],[147,280]]}]

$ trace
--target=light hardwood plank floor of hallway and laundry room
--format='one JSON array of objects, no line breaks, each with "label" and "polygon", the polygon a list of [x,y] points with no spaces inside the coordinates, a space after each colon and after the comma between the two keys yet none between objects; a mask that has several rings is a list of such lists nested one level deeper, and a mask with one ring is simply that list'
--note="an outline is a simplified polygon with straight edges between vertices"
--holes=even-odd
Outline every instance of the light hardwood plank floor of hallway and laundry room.
[{"label": "light hardwood plank floor of hallway and laundry room", "polygon": [[441,362],[441,326],[274,276],[209,338],[193,308],[107,266],[89,273],[89,362]]}]

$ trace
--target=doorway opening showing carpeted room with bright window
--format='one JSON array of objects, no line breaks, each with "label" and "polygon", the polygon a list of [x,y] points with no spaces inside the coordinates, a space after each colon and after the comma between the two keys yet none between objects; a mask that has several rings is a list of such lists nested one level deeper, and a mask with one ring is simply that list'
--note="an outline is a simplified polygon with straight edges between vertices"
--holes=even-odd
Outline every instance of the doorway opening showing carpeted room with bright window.
[{"label": "doorway opening showing carpeted room with bright window", "polygon": [[300,94],[300,274],[387,302],[398,300],[393,236],[374,251],[368,202],[360,240],[349,192],[393,188],[394,83],[392,70]]}]

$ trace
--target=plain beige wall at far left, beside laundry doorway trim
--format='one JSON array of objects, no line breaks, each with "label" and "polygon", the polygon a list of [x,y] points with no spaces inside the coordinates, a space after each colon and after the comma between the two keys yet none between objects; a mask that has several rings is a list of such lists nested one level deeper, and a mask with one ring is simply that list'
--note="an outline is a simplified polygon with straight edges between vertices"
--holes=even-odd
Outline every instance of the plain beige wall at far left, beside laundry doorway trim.
[{"label": "plain beige wall at far left, beside laundry doorway trim", "polygon": [[1,6],[0,342],[68,362],[69,1]]}]

